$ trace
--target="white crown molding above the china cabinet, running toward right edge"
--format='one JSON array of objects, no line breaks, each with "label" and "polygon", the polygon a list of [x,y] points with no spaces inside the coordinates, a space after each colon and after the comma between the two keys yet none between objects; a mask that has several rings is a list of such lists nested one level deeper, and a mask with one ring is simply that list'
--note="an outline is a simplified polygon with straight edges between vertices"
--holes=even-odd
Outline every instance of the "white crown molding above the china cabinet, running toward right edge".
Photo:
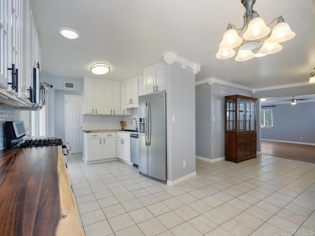
[{"label": "white crown molding above the china cabinet, running toward right edge", "polygon": [[196,81],[195,85],[208,84],[208,85],[212,86],[214,83],[231,86],[231,87],[235,87],[238,89],[249,90],[249,91],[252,91],[253,94],[255,94],[255,92],[257,92],[257,91],[272,90],[272,89],[286,89],[286,88],[310,85],[308,82],[303,82],[303,83],[296,83],[296,84],[288,84],[288,85],[280,85],[280,86],[272,86],[272,87],[265,87],[265,88],[259,88],[259,89],[252,89],[250,87],[234,84],[231,82],[226,82],[224,80],[217,80],[215,78],[207,78],[205,80]]}]

